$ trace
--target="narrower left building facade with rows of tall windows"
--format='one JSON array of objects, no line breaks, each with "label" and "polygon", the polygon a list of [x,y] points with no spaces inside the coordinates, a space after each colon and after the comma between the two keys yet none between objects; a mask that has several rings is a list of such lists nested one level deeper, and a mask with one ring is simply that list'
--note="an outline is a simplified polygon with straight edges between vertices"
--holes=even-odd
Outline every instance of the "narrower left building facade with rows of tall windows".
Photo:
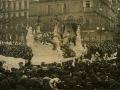
[{"label": "narrower left building facade with rows of tall windows", "polygon": [[29,0],[0,0],[1,40],[24,42],[28,17]]}]

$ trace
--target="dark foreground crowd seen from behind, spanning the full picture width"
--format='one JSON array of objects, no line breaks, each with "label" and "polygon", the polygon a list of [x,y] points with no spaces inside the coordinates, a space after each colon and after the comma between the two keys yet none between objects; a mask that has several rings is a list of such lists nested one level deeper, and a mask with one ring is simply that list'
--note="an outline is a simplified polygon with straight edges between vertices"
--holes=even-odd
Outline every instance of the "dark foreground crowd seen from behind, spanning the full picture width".
[{"label": "dark foreground crowd seen from behind, spanning the full picture width", "polygon": [[119,90],[120,59],[60,63],[4,70],[0,63],[0,90]]}]

